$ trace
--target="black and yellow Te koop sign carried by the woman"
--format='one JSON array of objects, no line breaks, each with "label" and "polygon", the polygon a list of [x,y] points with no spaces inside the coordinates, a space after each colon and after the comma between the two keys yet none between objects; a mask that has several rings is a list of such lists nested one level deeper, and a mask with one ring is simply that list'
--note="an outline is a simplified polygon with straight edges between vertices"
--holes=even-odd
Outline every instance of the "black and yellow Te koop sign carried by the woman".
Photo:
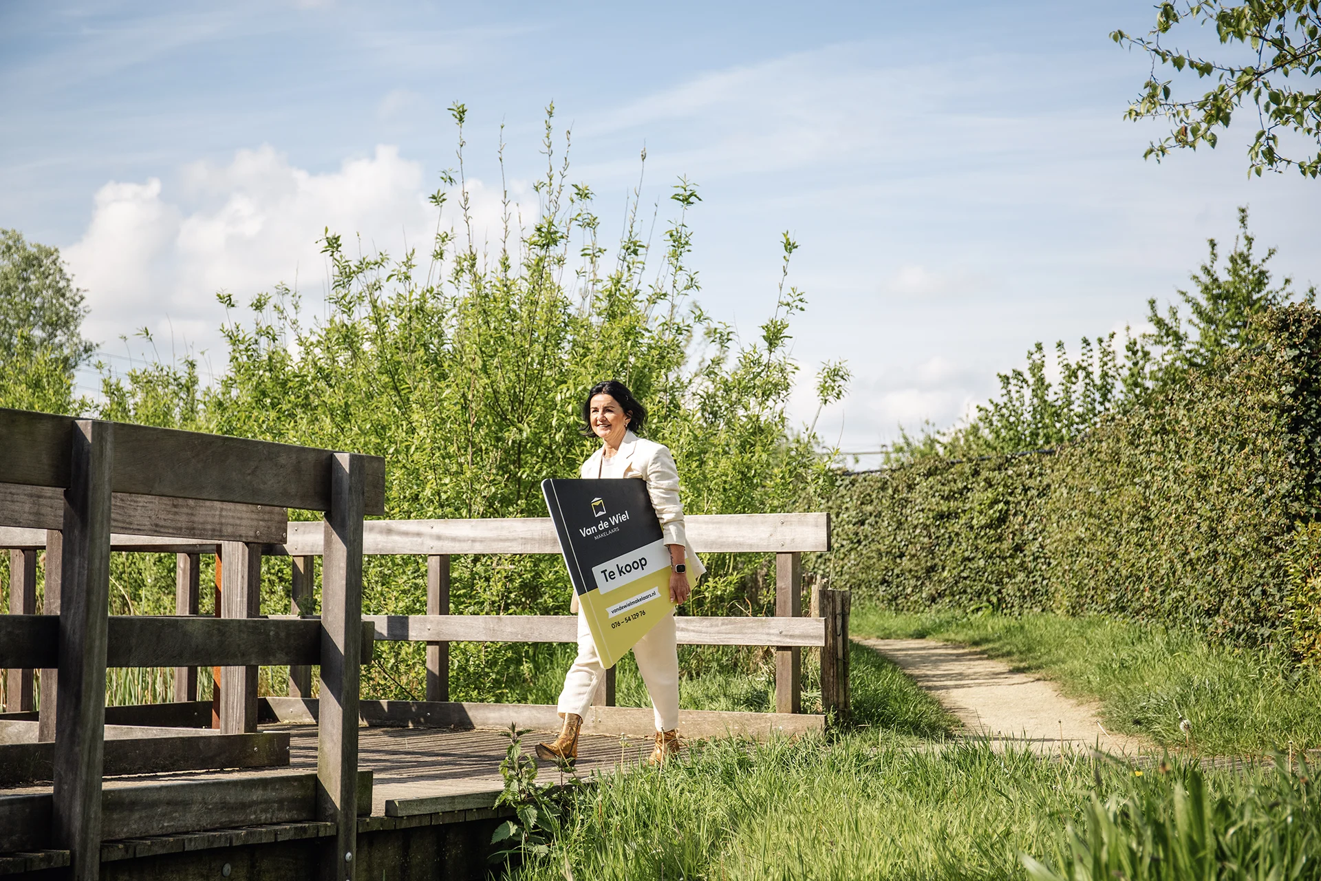
[{"label": "black and yellow Te koop sign carried by the woman", "polygon": [[671,614],[670,548],[637,478],[542,481],[597,654],[613,667]]}]

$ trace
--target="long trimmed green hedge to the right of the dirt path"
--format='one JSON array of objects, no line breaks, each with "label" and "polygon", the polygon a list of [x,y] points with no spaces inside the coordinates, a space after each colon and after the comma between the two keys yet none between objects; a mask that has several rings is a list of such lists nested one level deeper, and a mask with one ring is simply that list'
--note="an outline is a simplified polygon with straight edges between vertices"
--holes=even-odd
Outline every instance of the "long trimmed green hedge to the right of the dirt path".
[{"label": "long trimmed green hedge to the right of the dirt path", "polygon": [[847,478],[839,586],[900,609],[1107,613],[1321,658],[1321,312],[1055,454]]}]

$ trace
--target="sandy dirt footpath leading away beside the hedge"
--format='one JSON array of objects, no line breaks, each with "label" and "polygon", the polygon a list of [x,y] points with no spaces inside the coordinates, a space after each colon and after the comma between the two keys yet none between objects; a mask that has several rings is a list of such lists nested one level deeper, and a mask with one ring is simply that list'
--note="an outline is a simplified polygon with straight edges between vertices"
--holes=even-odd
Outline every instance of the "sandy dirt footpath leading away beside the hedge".
[{"label": "sandy dirt footpath leading away beside the hedge", "polygon": [[1094,749],[1136,756],[1143,741],[1106,732],[1095,704],[1059,693],[1050,682],[1013,672],[975,649],[934,639],[857,639],[894,663],[959,717],[967,736],[1042,753]]}]

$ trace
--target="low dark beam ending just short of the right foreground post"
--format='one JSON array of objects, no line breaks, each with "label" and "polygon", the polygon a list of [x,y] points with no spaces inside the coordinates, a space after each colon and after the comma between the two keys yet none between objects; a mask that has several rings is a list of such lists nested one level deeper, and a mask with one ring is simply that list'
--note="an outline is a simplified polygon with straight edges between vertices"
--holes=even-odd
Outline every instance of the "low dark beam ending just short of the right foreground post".
[{"label": "low dark beam ending just short of the right foreground post", "polygon": [[[227,767],[280,767],[289,763],[289,733],[177,734],[157,733],[133,738],[111,737],[107,726],[104,774],[162,774]],[[0,746],[0,786],[52,779],[54,744]]]}]

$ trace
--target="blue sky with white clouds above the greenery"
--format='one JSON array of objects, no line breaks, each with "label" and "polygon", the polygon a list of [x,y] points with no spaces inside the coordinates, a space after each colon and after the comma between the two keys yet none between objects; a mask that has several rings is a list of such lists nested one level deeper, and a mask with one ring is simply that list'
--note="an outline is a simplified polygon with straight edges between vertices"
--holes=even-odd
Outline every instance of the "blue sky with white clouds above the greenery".
[{"label": "blue sky with white clouds above the greenery", "polygon": [[[795,325],[810,376],[845,358],[826,440],[873,449],[948,424],[1037,339],[1140,322],[1232,238],[1250,205],[1276,268],[1321,283],[1321,184],[1246,180],[1215,152],[1145,162],[1122,119],[1148,62],[1108,40],[1149,0],[1108,4],[0,4],[0,226],[59,246],[111,353],[223,359],[214,292],[324,289],[325,226],[398,251],[454,165],[494,218],[505,123],[531,194],[543,107],[573,132],[573,177],[618,229],[679,174],[700,301],[750,335],[774,302],[778,239],[802,246]],[[1248,120],[1244,120],[1247,124]],[[528,205],[535,199],[527,201]],[[486,211],[481,214],[481,211]],[[120,362],[122,363],[122,362]]]}]

